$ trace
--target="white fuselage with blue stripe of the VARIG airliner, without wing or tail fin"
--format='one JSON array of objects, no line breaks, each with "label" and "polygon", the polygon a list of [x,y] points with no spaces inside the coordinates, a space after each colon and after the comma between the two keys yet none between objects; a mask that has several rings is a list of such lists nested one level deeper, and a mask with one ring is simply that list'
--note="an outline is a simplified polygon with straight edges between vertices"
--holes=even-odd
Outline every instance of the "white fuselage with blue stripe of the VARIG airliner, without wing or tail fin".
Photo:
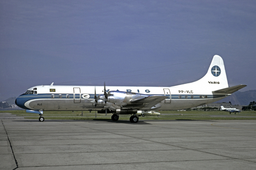
[{"label": "white fuselage with blue stripe of the VARIG airliner, without wing or tail fin", "polygon": [[[33,89],[37,90],[33,90]],[[53,90],[54,89],[54,90]],[[24,109],[43,111],[88,111],[101,110],[103,106],[95,106],[91,101],[96,95],[103,94],[104,86],[35,86],[28,91],[37,94],[24,94],[18,100],[24,101]],[[52,90],[52,92],[50,92]],[[107,86],[106,91],[123,91],[146,94],[148,96],[168,96],[159,103],[161,107],[155,110],[177,110],[212,103],[227,96],[214,95],[202,88],[188,87],[136,87],[136,86]],[[35,93],[35,92],[33,92]],[[20,106],[21,107],[21,106]],[[125,109],[125,106],[123,107]],[[154,109],[151,109],[154,110]]]}]

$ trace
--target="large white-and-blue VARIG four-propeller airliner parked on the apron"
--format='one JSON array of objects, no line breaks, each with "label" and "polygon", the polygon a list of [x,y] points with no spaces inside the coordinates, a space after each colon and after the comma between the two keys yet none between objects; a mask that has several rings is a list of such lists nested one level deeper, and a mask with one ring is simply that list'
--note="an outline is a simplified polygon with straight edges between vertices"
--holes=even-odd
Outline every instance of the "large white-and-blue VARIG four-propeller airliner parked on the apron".
[{"label": "large white-and-blue VARIG four-propeller airliner parked on the apron", "polygon": [[225,98],[246,85],[229,87],[223,59],[214,55],[206,75],[195,82],[170,86],[67,86],[41,85],[29,88],[16,98],[16,105],[26,112],[39,114],[44,121],[44,111],[95,111],[131,115],[130,122],[137,123],[138,111],[179,110],[197,107]]}]

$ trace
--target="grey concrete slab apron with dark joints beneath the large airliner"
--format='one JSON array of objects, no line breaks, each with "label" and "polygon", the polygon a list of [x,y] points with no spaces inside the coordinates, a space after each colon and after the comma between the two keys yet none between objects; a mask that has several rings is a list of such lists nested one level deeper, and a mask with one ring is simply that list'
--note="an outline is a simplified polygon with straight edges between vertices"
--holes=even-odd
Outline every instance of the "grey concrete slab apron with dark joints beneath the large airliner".
[{"label": "grey concrete slab apron with dark joints beneath the large airliner", "polygon": [[2,170],[255,170],[255,120],[38,120],[0,113]]}]

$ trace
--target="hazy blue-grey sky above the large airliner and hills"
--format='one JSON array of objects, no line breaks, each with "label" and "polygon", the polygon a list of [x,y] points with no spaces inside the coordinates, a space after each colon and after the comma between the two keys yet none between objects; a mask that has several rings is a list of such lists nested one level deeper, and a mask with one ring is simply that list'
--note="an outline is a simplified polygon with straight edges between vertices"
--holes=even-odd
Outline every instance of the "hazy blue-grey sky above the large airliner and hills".
[{"label": "hazy blue-grey sky above the large airliner and hills", "polygon": [[174,86],[214,55],[256,89],[254,0],[0,0],[0,101],[36,85]]}]

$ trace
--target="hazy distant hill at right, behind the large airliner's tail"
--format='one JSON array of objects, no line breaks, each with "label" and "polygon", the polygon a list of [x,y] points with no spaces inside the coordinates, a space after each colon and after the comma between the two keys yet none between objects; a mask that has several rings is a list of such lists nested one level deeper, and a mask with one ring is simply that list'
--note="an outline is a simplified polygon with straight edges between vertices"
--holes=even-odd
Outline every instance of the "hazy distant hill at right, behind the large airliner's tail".
[{"label": "hazy distant hill at right, behind the large airliner's tail", "polygon": [[231,102],[232,105],[249,105],[251,101],[256,101],[256,90],[248,90],[245,92],[237,91],[231,94],[231,96],[223,98],[222,100],[219,100],[215,103],[228,103],[229,101]]}]

